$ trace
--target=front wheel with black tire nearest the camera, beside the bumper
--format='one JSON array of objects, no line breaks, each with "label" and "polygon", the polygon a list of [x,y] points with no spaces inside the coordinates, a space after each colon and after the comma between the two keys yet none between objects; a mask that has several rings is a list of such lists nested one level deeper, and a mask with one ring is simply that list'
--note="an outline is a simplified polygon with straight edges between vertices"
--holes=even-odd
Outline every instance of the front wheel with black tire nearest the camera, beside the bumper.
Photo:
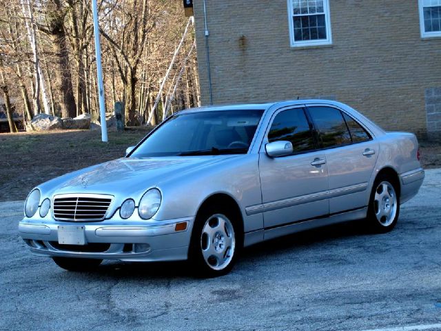
[{"label": "front wheel with black tire nearest the camera, beside the bumper", "polygon": [[238,219],[225,208],[201,210],[194,222],[189,262],[196,277],[219,277],[230,272],[243,246]]}]

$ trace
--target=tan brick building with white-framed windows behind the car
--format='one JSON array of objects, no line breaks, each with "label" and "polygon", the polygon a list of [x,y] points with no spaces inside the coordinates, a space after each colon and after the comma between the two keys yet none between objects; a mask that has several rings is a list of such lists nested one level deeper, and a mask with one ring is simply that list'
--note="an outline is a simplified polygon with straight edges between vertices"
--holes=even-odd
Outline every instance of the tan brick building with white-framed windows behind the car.
[{"label": "tan brick building with white-framed windows behind the car", "polygon": [[336,99],[387,130],[441,137],[441,0],[192,6],[203,104]]}]

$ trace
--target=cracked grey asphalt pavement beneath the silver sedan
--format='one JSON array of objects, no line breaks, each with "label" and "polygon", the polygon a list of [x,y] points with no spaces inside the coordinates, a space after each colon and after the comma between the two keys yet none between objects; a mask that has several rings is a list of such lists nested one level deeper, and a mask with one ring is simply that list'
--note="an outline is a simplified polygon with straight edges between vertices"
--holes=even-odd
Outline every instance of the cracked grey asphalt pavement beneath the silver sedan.
[{"label": "cracked grey asphalt pavement beneath the silver sedan", "polygon": [[0,330],[441,330],[440,169],[389,234],[295,234],[207,280],[185,263],[61,270],[19,239],[22,205],[0,203]]}]

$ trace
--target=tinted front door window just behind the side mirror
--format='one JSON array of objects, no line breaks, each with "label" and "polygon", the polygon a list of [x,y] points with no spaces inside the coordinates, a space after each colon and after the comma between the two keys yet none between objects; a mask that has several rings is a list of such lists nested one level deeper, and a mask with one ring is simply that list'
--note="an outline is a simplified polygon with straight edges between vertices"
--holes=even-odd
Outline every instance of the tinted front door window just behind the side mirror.
[{"label": "tinted front door window just behind the side mirror", "polygon": [[271,124],[268,133],[269,142],[291,141],[294,153],[314,150],[314,138],[302,108],[279,112]]}]

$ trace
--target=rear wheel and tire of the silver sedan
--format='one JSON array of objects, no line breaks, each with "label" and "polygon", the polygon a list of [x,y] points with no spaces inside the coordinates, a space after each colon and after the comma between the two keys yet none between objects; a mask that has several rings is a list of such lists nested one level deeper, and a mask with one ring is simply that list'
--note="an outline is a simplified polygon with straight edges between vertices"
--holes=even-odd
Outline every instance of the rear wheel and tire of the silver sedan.
[{"label": "rear wheel and tire of the silver sedan", "polygon": [[367,225],[374,233],[391,231],[400,215],[400,191],[397,183],[387,174],[380,174],[375,182],[369,199]]}]

